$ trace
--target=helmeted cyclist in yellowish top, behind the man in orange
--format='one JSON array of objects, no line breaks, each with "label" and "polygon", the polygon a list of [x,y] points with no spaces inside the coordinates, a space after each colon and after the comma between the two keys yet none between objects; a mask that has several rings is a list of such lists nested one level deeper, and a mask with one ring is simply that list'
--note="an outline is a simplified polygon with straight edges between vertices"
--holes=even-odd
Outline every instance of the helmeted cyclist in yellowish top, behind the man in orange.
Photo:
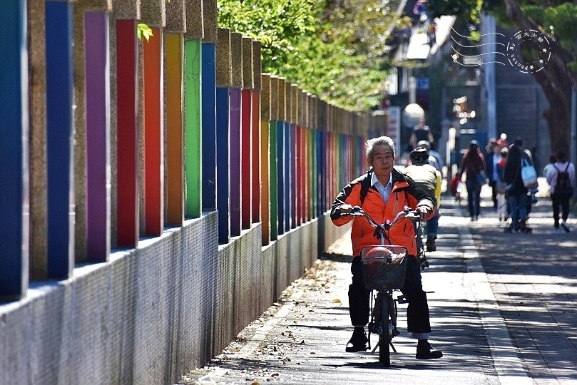
[{"label": "helmeted cyclist in yellowish top, behind the man in orange", "polygon": [[417,183],[429,195],[435,198],[434,216],[427,221],[427,251],[436,251],[436,234],[439,231],[439,208],[441,205],[441,173],[429,164],[429,152],[427,148],[415,148],[412,150],[410,159],[412,164],[404,168],[404,175]]}]

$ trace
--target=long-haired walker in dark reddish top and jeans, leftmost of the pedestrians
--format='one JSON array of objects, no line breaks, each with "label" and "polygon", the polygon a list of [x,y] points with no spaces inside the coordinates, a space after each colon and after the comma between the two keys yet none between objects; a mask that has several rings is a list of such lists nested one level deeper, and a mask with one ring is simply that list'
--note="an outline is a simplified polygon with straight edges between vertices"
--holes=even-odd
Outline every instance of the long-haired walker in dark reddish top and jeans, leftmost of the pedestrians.
[{"label": "long-haired walker in dark reddish top and jeans, leftmost of the pedestrians", "polygon": [[471,140],[458,174],[458,178],[461,178],[462,173],[466,174],[465,186],[471,220],[478,220],[481,212],[481,187],[486,183],[485,169],[485,157],[479,150],[479,142]]}]

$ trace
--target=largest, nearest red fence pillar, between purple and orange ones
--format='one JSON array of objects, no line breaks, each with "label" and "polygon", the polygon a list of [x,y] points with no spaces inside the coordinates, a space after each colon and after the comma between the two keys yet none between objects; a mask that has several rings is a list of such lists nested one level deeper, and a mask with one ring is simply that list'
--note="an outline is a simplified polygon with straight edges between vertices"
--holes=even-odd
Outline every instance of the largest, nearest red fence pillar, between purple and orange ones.
[{"label": "largest, nearest red fence pillar, between purple and orange ones", "polygon": [[140,0],[116,0],[111,13],[111,245],[136,247],[140,238],[141,165],[138,148]]}]

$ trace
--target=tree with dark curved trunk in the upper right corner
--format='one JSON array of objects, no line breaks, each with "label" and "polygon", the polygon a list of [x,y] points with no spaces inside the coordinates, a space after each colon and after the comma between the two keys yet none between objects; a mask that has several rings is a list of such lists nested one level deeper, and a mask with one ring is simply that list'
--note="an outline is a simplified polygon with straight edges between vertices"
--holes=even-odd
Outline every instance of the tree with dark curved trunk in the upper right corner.
[{"label": "tree with dark curved trunk in the upper right corner", "polygon": [[[533,29],[546,35],[551,43],[551,59],[533,74],[543,89],[549,106],[543,112],[547,120],[551,150],[568,153],[571,125],[571,87],[577,89],[577,4],[547,0],[429,0],[434,16],[466,16],[479,22],[481,11],[491,13],[503,26]],[[522,51],[530,56],[530,51]]]}]

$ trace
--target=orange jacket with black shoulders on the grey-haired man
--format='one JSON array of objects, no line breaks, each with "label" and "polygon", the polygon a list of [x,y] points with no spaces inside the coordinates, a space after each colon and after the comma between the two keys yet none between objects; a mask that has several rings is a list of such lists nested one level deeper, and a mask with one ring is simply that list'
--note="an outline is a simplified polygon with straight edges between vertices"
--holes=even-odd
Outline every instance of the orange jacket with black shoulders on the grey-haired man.
[{"label": "orange jacket with black shoulders on the grey-haired man", "polygon": [[[362,180],[371,178],[372,173],[366,173],[346,185],[332,203],[331,219],[337,226],[342,226],[351,220],[352,223],[352,248],[354,256],[361,255],[361,249],[366,246],[379,245],[380,240],[374,237],[374,227],[369,225],[369,221],[364,217],[340,216],[340,206],[343,202],[353,206],[361,205],[361,185]],[[403,210],[404,206],[409,206],[415,210],[417,206],[426,205],[431,208],[431,215],[434,215],[434,200],[422,188],[419,188],[414,181],[392,170],[392,191],[388,202],[385,204],[379,191],[370,187],[362,204],[362,209],[369,214],[377,223],[384,223],[387,220],[394,220],[397,213]],[[430,219],[430,218],[429,218]],[[407,247],[409,255],[417,255],[417,242],[415,241],[414,227],[410,219],[399,220],[391,227],[389,238],[392,245]]]}]

